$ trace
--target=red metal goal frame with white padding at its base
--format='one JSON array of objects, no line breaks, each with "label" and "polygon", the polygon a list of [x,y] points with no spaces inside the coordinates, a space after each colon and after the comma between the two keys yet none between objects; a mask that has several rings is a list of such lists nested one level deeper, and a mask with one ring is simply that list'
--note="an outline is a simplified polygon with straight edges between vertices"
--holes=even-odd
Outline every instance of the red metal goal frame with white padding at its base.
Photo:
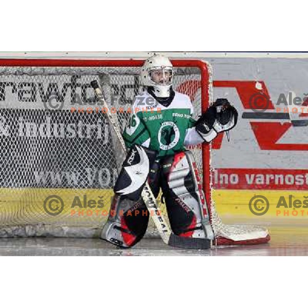
[{"label": "red metal goal frame with white padding at its base", "polygon": [[[172,59],[170,60],[174,67],[197,68],[200,71],[200,99],[201,112],[205,112],[211,105],[213,98],[213,81],[211,65],[206,61],[198,59]],[[15,59],[0,58],[1,67],[127,67],[140,68],[144,60],[136,59]],[[199,148],[199,145],[198,145]],[[203,190],[208,206],[209,218],[215,233],[215,245],[241,245],[241,244],[259,244],[266,243],[271,238],[267,229],[251,225],[225,225],[222,223],[212,198],[212,166],[211,166],[211,144],[201,144],[202,156],[202,176]]]}]

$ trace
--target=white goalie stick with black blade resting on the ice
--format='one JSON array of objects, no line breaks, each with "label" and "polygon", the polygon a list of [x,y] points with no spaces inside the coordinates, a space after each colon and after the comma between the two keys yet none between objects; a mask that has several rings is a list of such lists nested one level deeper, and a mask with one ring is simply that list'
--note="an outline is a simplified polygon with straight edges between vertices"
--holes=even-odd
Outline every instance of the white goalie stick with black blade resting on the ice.
[{"label": "white goalie stick with black blade resting on the ice", "polygon": [[[111,115],[111,112],[103,97],[103,93],[99,86],[98,81],[93,80],[91,82],[91,86],[94,89],[95,94],[97,95],[97,98],[100,101],[100,103],[103,105],[104,108],[106,108],[106,110],[108,110],[105,114],[107,116],[109,124],[112,127],[114,133],[116,134],[119,142],[121,143],[123,150],[126,152],[125,143],[124,143],[124,139],[121,134],[120,127],[118,126],[117,122],[115,121],[115,119],[113,119]],[[141,196],[149,212],[153,213],[153,215],[151,215],[151,218],[153,222],[155,223],[162,240],[166,244],[170,246],[174,246],[174,247],[189,248],[189,249],[208,249],[210,248],[211,242],[208,239],[180,237],[171,232],[169,226],[166,223],[165,218],[163,217],[161,213],[161,210],[158,207],[156,198],[154,197],[153,192],[151,188],[149,187],[147,181],[141,192]]]}]

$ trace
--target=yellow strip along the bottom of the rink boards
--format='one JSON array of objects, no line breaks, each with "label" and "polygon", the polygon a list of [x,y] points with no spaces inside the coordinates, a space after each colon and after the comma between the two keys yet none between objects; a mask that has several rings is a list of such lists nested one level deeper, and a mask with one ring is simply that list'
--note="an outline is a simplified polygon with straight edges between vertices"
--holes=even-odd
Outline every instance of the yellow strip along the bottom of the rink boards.
[{"label": "yellow strip along the bottom of the rink boards", "polygon": [[[112,189],[68,188],[1,188],[0,217],[2,225],[44,222],[55,225],[102,227],[107,219]],[[259,196],[259,197],[258,197]],[[249,201],[258,201],[249,207]],[[262,221],[308,219],[308,191],[303,190],[224,190],[213,191],[222,218]],[[259,198],[259,199],[258,199]],[[61,201],[62,200],[62,201]],[[161,204],[162,213],[166,214]]]}]

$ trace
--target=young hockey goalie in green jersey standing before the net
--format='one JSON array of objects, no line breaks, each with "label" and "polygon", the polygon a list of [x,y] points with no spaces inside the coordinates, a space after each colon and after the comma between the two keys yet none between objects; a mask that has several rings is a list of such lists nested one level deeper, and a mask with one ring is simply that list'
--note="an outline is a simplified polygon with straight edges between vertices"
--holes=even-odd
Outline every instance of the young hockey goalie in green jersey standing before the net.
[{"label": "young hockey goalie in green jersey standing before the net", "polygon": [[[148,181],[157,198],[160,188],[172,231],[183,237],[213,239],[204,192],[198,188],[194,157],[185,146],[211,142],[232,129],[237,111],[226,99],[218,99],[195,121],[187,95],[172,89],[174,69],[167,57],[155,55],[141,69],[146,90],[134,100],[123,132],[127,148],[101,237],[121,247],[131,247],[144,236],[149,213],[141,198]],[[142,99],[141,99],[142,98]],[[148,107],[140,102],[155,102]]]}]

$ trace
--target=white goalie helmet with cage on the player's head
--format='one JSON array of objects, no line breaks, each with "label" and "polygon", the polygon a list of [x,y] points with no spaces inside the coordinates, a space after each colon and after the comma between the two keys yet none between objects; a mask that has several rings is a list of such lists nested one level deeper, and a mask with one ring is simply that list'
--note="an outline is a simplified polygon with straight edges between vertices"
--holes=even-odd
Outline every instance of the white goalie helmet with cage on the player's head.
[{"label": "white goalie helmet with cage on the player's head", "polygon": [[153,87],[155,95],[167,98],[170,95],[174,69],[170,60],[156,54],[145,60],[141,69],[141,82],[144,86]]}]

